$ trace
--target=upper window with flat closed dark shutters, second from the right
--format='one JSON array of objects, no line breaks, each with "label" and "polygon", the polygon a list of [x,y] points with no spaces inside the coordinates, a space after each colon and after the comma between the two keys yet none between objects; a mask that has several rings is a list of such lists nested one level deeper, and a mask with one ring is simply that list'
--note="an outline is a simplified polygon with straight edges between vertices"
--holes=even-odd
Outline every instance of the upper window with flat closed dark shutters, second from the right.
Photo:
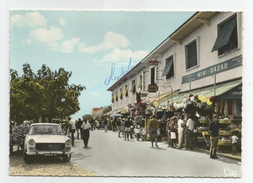
[{"label": "upper window with flat closed dark shutters, second from the right", "polygon": [[190,69],[198,64],[197,42],[194,40],[186,46],[186,69]]}]

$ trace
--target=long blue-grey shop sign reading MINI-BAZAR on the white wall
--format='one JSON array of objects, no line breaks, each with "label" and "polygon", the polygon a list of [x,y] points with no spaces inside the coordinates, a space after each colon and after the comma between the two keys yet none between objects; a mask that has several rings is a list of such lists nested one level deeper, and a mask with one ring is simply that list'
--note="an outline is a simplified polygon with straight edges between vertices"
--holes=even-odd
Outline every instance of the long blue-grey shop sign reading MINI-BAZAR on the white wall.
[{"label": "long blue-grey shop sign reading MINI-BAZAR on the white wall", "polygon": [[213,65],[211,67],[207,67],[198,72],[183,76],[182,83],[195,81],[207,76],[211,76],[213,74],[217,74],[223,71],[227,71],[229,69],[233,69],[235,67],[239,67],[241,65],[242,65],[242,55],[229,59],[225,62]]}]

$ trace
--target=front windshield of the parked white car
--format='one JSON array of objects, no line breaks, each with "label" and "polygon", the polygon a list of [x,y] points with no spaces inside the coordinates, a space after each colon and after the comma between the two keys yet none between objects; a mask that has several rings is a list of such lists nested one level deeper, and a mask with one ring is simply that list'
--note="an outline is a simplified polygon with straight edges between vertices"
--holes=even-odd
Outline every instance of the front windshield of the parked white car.
[{"label": "front windshield of the parked white car", "polygon": [[29,135],[39,135],[39,134],[59,134],[63,135],[63,131],[59,125],[34,125],[31,126]]}]

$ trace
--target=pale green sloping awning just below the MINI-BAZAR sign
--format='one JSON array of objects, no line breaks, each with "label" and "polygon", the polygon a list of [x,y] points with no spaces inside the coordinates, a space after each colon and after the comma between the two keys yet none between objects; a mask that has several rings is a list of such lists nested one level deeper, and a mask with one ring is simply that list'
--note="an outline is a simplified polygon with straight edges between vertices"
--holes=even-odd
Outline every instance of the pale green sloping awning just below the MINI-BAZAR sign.
[{"label": "pale green sloping awning just below the MINI-BAZAR sign", "polygon": [[[230,81],[227,83],[222,83],[222,84],[217,84],[216,85],[216,90],[215,90],[215,97],[216,98],[220,98],[223,94],[225,94],[226,92],[236,88],[237,86],[242,84],[242,80],[235,80],[235,81]],[[207,98],[214,96],[214,86],[209,86],[209,87],[205,87],[205,88],[200,88],[197,90],[192,90],[191,92],[184,92],[184,93],[180,93],[178,94],[175,98],[173,98],[173,100],[171,102],[178,102],[181,103],[184,99],[185,95],[203,95]],[[224,96],[223,96],[224,97]]]}]

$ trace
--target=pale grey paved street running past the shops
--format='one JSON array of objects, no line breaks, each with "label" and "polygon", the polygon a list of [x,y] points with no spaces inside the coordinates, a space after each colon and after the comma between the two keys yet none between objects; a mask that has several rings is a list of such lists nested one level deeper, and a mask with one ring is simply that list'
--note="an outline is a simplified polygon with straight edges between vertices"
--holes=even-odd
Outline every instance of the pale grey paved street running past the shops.
[{"label": "pale grey paved street running past the shops", "polygon": [[148,141],[124,141],[116,132],[95,130],[88,148],[83,148],[82,140],[75,141],[71,163],[97,176],[241,177],[240,161],[213,160],[206,153],[158,145],[152,148]]}]

